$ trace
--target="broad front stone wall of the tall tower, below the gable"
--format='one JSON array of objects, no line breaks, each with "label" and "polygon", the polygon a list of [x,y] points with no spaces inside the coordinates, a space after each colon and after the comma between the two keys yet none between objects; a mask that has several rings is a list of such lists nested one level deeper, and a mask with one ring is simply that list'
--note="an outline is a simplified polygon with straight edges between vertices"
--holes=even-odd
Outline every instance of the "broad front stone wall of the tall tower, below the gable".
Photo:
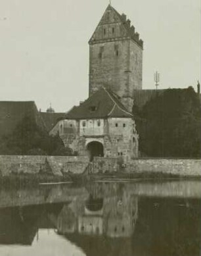
[{"label": "broad front stone wall of the tall tower, below the gable", "polygon": [[125,71],[129,69],[129,40],[90,45],[89,51],[89,95],[102,86],[110,86],[120,97],[127,95],[129,75]]}]

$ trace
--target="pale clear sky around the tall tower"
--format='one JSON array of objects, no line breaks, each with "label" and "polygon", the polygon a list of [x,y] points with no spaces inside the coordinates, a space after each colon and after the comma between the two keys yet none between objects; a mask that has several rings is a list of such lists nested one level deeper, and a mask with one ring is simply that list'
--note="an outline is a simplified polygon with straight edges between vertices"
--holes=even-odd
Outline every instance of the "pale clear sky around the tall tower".
[{"label": "pale clear sky around the tall tower", "polygon": [[[66,112],[88,97],[89,45],[108,0],[0,0],[0,101]],[[200,80],[200,0],[112,0],[144,41],[143,89]]]}]

